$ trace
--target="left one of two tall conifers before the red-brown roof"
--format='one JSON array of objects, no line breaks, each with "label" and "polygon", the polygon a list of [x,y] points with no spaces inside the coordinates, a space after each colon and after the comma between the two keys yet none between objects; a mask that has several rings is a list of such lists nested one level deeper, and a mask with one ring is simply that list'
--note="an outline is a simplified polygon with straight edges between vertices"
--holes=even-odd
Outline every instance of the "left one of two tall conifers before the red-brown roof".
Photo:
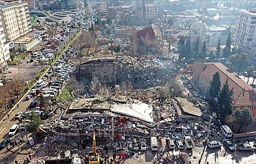
[{"label": "left one of two tall conifers before the red-brown roof", "polygon": [[222,84],[220,83],[219,72],[216,72],[213,74],[213,80],[210,81],[210,88],[209,88],[209,94],[212,97],[212,102],[213,102],[213,98],[219,96],[219,91],[221,86]]}]

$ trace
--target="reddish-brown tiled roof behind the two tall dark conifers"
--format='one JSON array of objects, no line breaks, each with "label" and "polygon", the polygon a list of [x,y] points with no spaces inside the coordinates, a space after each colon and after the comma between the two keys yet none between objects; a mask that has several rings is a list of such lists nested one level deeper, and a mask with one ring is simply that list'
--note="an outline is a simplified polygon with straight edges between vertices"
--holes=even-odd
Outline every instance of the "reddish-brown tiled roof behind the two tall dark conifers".
[{"label": "reddish-brown tiled roof behind the two tall dark conifers", "polygon": [[195,63],[193,65],[198,66],[209,81],[213,79],[213,74],[216,72],[219,72],[222,86],[228,79],[229,88],[234,88],[233,106],[256,105],[256,91],[254,88],[244,82],[243,79],[240,79],[236,74],[229,72],[228,68],[222,65],[221,62],[210,62],[207,63],[206,67],[204,63]]}]

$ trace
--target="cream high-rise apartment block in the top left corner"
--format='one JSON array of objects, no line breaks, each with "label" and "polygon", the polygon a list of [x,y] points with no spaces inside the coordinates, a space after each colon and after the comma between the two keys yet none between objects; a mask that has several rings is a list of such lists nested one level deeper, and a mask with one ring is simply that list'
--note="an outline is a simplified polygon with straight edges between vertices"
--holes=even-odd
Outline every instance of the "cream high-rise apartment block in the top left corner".
[{"label": "cream high-rise apartment block in the top left corner", "polygon": [[31,30],[27,3],[0,5],[0,16],[7,41],[17,39]]}]

